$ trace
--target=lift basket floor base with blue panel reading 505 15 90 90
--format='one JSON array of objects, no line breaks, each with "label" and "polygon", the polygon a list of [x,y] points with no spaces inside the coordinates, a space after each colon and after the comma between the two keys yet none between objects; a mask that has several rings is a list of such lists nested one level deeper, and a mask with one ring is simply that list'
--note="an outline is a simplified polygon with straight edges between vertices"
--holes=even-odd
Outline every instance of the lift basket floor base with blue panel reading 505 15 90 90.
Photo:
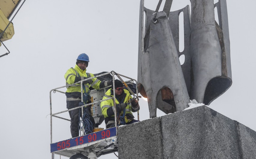
[{"label": "lift basket floor base with blue panel reading 505 15 90 90", "polygon": [[117,152],[117,127],[51,143],[51,153],[71,157],[77,153],[96,156]]}]

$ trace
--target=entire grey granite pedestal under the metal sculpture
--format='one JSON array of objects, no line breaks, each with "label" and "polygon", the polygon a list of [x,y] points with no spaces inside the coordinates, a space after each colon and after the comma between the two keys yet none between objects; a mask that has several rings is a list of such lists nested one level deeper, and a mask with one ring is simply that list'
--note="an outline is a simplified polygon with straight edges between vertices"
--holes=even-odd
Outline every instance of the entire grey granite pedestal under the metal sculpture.
[{"label": "entire grey granite pedestal under the metal sculpture", "polygon": [[256,158],[256,132],[201,106],[118,128],[121,159]]}]

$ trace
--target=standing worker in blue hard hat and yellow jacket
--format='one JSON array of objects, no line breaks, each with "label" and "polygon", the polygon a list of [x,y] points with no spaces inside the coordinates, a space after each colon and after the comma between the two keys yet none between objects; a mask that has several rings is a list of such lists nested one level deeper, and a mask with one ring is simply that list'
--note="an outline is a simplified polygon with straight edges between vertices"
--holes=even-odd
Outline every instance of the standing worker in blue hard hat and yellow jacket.
[{"label": "standing worker in blue hard hat and yellow jacket", "polygon": [[[78,81],[94,77],[92,73],[86,72],[86,68],[88,67],[88,63],[90,62],[89,57],[87,54],[82,53],[78,55],[76,65],[74,68],[70,68],[67,70],[66,74],[64,75],[66,79],[66,85],[68,84],[74,84]],[[100,89],[111,85],[111,80],[109,81],[100,81],[97,78],[92,78],[90,80],[86,80],[83,82],[83,93],[89,95],[90,93],[90,87],[94,89]],[[81,102],[81,85],[80,83],[71,85],[67,87],[66,91],[66,97],[67,97],[67,108],[75,108],[79,106],[79,103]],[[84,97],[83,97],[84,99]],[[87,100],[87,99],[86,99]],[[84,101],[85,103],[90,103],[90,99],[88,101]],[[90,107],[87,110],[87,113],[91,114]],[[72,137],[78,137],[79,136],[79,116],[81,116],[81,108],[71,110],[69,111],[69,116],[71,118],[71,125],[70,125],[70,131]],[[95,126],[95,122],[92,116],[90,116],[90,121],[93,123],[93,126]]]}]

